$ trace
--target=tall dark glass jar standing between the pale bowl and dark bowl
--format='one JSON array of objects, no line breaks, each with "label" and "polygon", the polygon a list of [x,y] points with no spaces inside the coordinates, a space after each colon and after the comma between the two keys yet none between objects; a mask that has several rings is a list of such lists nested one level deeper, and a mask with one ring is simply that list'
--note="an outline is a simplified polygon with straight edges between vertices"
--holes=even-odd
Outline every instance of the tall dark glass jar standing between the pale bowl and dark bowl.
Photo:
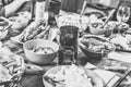
[{"label": "tall dark glass jar standing between the pale bowl and dark bowl", "polygon": [[60,27],[59,64],[75,63],[78,58],[79,27],[64,25]]}]

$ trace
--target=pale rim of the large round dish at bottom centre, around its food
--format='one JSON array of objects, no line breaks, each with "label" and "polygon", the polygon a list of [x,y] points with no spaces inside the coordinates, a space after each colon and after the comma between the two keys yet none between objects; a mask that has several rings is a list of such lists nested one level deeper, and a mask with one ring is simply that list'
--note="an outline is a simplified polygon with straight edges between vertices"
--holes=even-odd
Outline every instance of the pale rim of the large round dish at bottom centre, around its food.
[{"label": "pale rim of the large round dish at bottom centre, around its food", "polygon": [[[49,74],[56,74],[56,73],[59,73],[60,74],[60,71],[61,70],[64,70],[64,67],[67,69],[71,69],[71,71],[76,71],[75,69],[78,70],[82,70],[85,72],[85,75],[87,75],[88,77],[91,77],[91,80],[94,83],[94,87],[104,87],[104,83],[103,83],[103,79],[96,74],[94,73],[93,71],[91,70],[85,70],[84,67],[80,67],[80,66],[73,66],[73,65],[61,65],[61,66],[55,66],[50,70],[48,70],[45,75],[43,76],[43,82],[44,82],[44,85],[45,87],[53,87],[50,83],[48,83],[44,77],[45,76],[48,76]],[[74,67],[74,69],[73,69]],[[70,71],[70,72],[71,72]],[[60,76],[60,75],[59,75]],[[71,75],[72,76],[72,75]],[[78,76],[76,76],[78,77]],[[79,83],[79,82],[78,82]],[[88,82],[86,82],[87,84]],[[75,84],[74,84],[75,85]],[[66,87],[66,86],[61,86],[60,87]],[[92,86],[88,86],[88,87],[92,87]]]}]

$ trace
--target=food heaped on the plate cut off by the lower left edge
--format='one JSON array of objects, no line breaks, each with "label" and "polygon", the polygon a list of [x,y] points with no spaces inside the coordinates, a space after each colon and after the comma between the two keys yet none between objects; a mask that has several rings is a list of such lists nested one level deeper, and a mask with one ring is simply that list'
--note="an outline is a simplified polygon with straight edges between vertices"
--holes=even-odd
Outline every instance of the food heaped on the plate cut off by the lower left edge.
[{"label": "food heaped on the plate cut off by the lower left edge", "polygon": [[1,64],[9,71],[12,76],[24,72],[23,58],[17,54],[0,55]]}]

